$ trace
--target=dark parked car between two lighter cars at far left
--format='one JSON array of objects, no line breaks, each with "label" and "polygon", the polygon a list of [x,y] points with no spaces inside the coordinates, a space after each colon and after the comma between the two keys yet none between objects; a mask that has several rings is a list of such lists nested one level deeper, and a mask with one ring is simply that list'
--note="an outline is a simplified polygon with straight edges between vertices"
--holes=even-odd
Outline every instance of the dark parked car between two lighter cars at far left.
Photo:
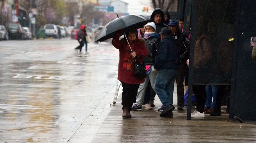
[{"label": "dark parked car between two lighter cars at far left", "polygon": [[22,30],[19,23],[9,23],[7,26],[9,39],[20,39],[23,40],[26,37],[25,32]]}]

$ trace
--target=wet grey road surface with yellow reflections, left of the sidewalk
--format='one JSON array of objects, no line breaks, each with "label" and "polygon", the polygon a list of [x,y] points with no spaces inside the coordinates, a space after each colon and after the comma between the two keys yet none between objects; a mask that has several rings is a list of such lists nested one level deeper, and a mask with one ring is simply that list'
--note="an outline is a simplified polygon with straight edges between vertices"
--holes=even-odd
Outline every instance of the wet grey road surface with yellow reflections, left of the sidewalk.
[{"label": "wet grey road surface with yellow reflections, left of the sidewalk", "polygon": [[115,91],[118,51],[108,43],[89,44],[89,54],[78,54],[77,43],[0,42],[0,142],[66,143],[93,115],[103,122]]}]

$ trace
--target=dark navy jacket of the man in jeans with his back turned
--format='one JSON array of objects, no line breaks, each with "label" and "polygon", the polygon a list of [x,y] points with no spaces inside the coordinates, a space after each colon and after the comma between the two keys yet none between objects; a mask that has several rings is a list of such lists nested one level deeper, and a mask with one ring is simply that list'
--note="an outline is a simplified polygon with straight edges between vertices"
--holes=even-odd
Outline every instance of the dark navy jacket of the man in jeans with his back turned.
[{"label": "dark navy jacket of the man in jeans with his back turned", "polygon": [[178,70],[178,57],[176,40],[171,36],[166,36],[158,45],[154,68],[156,70]]}]

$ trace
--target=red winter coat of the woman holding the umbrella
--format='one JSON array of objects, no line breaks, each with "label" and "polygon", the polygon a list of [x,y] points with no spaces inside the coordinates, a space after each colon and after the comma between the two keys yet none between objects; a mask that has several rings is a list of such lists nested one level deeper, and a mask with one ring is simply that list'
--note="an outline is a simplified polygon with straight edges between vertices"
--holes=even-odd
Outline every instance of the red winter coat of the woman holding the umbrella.
[{"label": "red winter coat of the woman holding the umbrella", "polygon": [[[115,35],[112,40],[112,45],[119,50],[119,63],[118,63],[118,80],[126,84],[141,84],[144,78],[137,78],[134,75],[134,61],[132,60],[131,49],[126,39],[119,40],[119,35]],[[142,40],[137,39],[134,44],[130,44],[132,51],[136,52],[136,59],[140,62],[143,61],[148,55],[148,50]]]}]

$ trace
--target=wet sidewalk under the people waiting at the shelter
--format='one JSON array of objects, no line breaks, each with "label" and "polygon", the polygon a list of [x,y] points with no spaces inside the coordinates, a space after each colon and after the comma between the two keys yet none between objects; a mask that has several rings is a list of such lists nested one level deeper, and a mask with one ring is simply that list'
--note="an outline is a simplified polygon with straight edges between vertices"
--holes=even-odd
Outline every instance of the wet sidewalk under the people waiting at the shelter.
[{"label": "wet sidewalk under the people waiting at the shelter", "polygon": [[[176,89],[176,88],[175,88]],[[212,117],[206,115],[204,120],[186,120],[186,108],[177,110],[177,94],[174,92],[173,118],[161,118],[157,111],[161,106],[156,96],[155,109],[132,111],[131,119],[122,119],[120,88],[115,106],[102,124],[94,131],[90,140],[93,143],[255,143],[256,123],[239,123],[229,120],[227,113]],[[114,94],[113,94],[114,95]],[[223,108],[224,109],[224,108]],[[192,112],[195,108],[192,108]],[[224,112],[224,111],[223,111]],[[90,130],[90,129],[89,129]],[[81,134],[82,135],[82,134]],[[83,141],[88,141],[83,134]],[[77,136],[79,139],[79,136]]]}]

